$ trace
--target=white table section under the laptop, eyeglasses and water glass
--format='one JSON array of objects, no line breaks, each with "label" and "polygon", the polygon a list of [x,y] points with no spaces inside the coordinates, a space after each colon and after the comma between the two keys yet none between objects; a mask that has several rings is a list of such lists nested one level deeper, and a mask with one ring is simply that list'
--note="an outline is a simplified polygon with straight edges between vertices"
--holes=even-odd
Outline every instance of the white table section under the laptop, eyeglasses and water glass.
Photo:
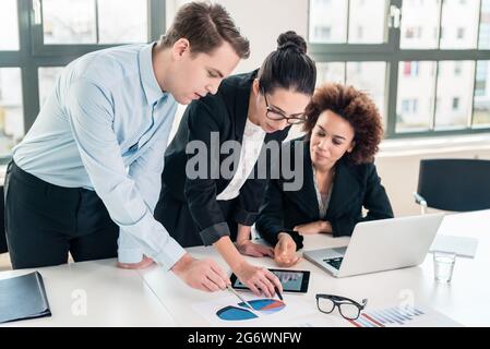
[{"label": "white table section under the laptop, eyeglasses and water glass", "polygon": [[[369,308],[384,308],[401,302],[415,301],[428,305],[465,326],[490,326],[490,210],[451,215],[444,218],[438,233],[467,236],[479,240],[475,258],[458,257],[453,281],[441,285],[433,278],[432,254],[417,267],[361,275],[348,278],[335,278],[308,261],[301,261],[295,269],[311,270],[310,288],[307,294],[286,294],[287,298],[301,298],[308,306],[316,309],[315,293],[332,293],[361,300],[369,300]],[[306,237],[306,249],[342,246],[348,238],[328,236]],[[212,248],[192,248],[189,251],[198,257],[213,257],[225,270],[229,270],[224,261]],[[274,267],[271,258],[248,258],[253,264]],[[140,270],[150,288],[165,304],[168,312],[180,326],[210,326],[211,324],[195,314],[190,304],[224,297],[223,292],[205,293],[188,287],[171,274],[157,269]],[[333,315],[335,316],[335,315]],[[311,316],[309,321],[312,321]],[[316,324],[325,326],[342,324],[332,315],[316,312]],[[285,323],[282,325],[296,325]],[[271,324],[272,326],[278,324]],[[346,324],[347,325],[347,324]]]}]

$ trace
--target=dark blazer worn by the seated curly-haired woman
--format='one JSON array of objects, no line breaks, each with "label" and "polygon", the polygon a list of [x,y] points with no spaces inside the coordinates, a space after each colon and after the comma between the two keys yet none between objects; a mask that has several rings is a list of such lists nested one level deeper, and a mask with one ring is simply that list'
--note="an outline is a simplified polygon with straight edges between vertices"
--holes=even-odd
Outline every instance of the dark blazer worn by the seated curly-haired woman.
[{"label": "dark blazer worn by the seated curly-haired woman", "polygon": [[[286,181],[283,176],[272,179],[255,227],[272,244],[277,242],[280,231],[289,232],[299,250],[302,248],[302,238],[288,230],[320,220],[320,210],[313,182],[310,143],[299,139],[284,146],[292,148],[298,142],[303,149],[303,185],[299,191],[284,191]],[[292,158],[294,152],[290,154]],[[291,164],[295,163],[291,160]],[[334,237],[350,236],[359,221],[393,217],[390,200],[374,164],[352,165],[343,157],[335,167],[334,186],[325,217],[332,225]],[[362,217],[362,206],[368,209],[366,217]]]}]

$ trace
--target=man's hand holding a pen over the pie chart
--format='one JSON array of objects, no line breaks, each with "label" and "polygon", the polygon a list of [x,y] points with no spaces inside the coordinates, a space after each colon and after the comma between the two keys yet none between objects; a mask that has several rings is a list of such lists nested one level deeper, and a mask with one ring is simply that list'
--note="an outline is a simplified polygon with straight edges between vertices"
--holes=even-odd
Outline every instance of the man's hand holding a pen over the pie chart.
[{"label": "man's hand holding a pen over the pie chart", "polygon": [[171,270],[187,285],[201,291],[215,292],[231,285],[228,276],[213,260],[196,260],[184,254]]}]

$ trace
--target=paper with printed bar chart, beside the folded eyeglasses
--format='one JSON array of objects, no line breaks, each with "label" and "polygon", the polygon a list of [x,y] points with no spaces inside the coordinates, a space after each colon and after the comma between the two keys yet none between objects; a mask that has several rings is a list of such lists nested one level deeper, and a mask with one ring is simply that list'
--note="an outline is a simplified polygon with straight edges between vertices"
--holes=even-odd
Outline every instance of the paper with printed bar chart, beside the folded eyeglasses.
[{"label": "paper with printed bar chart, beside the folded eyeglasses", "polygon": [[421,306],[392,306],[370,310],[349,321],[357,327],[462,326],[450,317]]}]

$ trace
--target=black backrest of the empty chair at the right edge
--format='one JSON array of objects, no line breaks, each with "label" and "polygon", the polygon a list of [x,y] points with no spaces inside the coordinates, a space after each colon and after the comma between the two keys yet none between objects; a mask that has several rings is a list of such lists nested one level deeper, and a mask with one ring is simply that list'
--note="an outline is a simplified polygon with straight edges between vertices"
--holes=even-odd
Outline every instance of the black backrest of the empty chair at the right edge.
[{"label": "black backrest of the empty chair at the right edge", "polygon": [[490,160],[421,160],[417,192],[429,207],[438,209],[490,208]]}]

